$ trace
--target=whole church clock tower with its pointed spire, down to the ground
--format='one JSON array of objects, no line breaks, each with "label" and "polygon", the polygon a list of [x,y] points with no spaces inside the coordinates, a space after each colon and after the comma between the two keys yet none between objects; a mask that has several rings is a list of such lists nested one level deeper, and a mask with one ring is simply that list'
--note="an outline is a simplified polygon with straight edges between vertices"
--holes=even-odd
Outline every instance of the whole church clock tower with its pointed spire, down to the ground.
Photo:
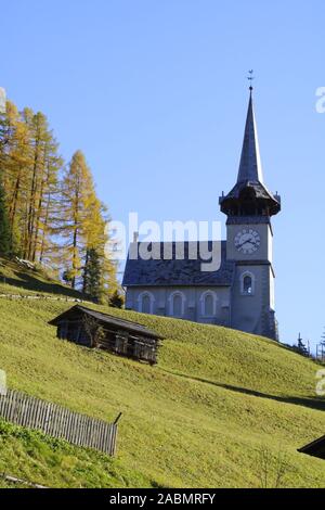
[{"label": "whole church clock tower with its pointed spire, down to the ground", "polygon": [[278,340],[274,311],[273,230],[271,217],[281,211],[281,197],[263,180],[252,87],[245,126],[237,182],[220,197],[226,220],[226,258],[235,265],[231,327]]}]

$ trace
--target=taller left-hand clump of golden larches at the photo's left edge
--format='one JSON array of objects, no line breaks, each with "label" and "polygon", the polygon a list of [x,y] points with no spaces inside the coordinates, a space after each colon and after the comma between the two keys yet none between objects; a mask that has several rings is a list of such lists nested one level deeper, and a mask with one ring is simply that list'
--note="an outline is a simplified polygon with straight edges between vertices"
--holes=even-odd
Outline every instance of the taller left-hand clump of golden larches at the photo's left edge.
[{"label": "taller left-hand clump of golden larches at the photo's left edge", "polygon": [[20,114],[8,102],[0,150],[13,251],[31,262],[43,259],[52,244],[49,212],[63,164],[46,116],[30,109]]}]

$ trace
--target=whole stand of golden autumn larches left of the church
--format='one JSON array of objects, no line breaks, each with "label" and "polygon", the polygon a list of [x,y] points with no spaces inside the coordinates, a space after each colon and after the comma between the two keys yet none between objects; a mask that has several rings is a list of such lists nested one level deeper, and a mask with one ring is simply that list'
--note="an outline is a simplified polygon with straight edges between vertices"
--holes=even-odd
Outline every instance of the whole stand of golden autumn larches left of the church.
[{"label": "whole stand of golden autumn larches left of the church", "polygon": [[47,117],[8,101],[0,114],[0,252],[64,268],[73,288],[107,302],[118,289],[105,254],[107,211],[82,152],[63,165]]}]

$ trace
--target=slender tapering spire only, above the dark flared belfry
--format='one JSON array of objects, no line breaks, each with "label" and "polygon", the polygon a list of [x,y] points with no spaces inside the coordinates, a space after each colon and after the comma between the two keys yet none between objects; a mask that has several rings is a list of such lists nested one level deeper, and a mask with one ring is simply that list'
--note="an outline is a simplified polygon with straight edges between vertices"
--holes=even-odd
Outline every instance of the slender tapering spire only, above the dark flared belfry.
[{"label": "slender tapering spire only, above the dark flared belfry", "polygon": [[252,104],[252,87],[249,87],[249,103],[237,182],[263,183],[259,140]]}]

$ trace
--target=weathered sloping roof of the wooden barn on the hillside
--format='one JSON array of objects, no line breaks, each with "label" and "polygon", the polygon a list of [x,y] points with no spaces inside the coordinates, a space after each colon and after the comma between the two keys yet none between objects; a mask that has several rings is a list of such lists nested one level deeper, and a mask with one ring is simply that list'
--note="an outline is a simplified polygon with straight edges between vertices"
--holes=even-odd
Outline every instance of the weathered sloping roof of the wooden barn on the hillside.
[{"label": "weathered sloping roof of the wooden barn on the hillside", "polygon": [[129,332],[139,333],[144,336],[152,336],[155,339],[162,339],[159,334],[155,331],[150,330],[145,326],[139,324],[138,322],[133,322],[131,320],[120,319],[119,317],[115,317],[108,314],[102,314],[101,311],[92,310],[81,305],[76,305],[69,308],[68,310],[64,311],[60,316],[52,319],[49,324],[51,326],[58,326],[58,323],[64,320],[68,319],[69,317],[76,315],[86,314],[94,319],[99,320],[99,322],[114,326],[117,329],[127,330]]}]

